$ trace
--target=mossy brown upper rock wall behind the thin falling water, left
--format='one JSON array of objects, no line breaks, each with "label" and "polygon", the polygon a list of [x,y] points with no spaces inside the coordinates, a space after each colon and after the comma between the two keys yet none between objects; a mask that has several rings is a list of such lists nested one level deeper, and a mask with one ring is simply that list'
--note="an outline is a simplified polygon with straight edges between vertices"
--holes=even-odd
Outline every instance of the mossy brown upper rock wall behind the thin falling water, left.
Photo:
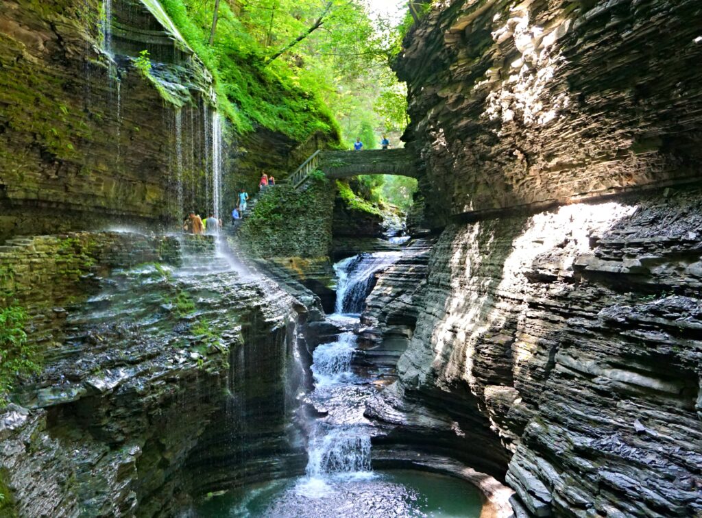
[{"label": "mossy brown upper rock wall behind the thin falling water, left", "polygon": [[[99,0],[1,3],[0,241],[213,209],[209,72],[157,1],[109,4],[108,20]],[[148,74],[134,66],[142,51]],[[330,138],[220,123],[225,213],[261,170],[282,179]]]}]

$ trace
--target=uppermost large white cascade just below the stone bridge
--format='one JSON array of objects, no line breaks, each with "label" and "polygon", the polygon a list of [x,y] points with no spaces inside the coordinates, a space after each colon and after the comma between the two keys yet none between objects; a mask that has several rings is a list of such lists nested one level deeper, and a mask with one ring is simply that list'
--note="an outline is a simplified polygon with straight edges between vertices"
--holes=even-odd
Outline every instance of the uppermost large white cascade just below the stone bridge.
[{"label": "uppermost large white cascade just below the stone bridge", "polygon": [[336,263],[336,312],[361,313],[376,273],[396,263],[401,255],[400,252],[362,253]]}]

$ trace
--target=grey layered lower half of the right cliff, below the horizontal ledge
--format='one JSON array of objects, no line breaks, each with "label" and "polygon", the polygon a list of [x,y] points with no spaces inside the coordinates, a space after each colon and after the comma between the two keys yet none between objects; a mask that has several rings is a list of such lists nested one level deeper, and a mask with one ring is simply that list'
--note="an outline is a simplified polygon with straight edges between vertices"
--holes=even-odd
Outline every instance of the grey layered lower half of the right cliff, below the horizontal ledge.
[{"label": "grey layered lower half of the right cliff, below the horizontal ledge", "polygon": [[701,512],[700,194],[447,227],[379,442],[505,477],[538,516]]}]

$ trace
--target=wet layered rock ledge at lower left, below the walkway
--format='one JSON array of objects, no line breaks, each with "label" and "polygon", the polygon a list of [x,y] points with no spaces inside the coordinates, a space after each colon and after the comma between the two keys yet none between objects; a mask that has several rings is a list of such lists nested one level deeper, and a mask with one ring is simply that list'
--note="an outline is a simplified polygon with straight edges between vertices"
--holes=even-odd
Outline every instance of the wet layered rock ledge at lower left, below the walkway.
[{"label": "wet layered rock ledge at lower left, below the walkway", "polygon": [[[17,266],[4,297],[29,315],[42,367],[0,410],[3,511],[176,514],[232,474],[213,463],[205,476],[197,448],[229,441],[237,427],[227,416],[251,417],[241,409],[265,416],[256,421],[265,444],[302,462],[281,425],[294,405],[281,398],[296,393],[307,307],[222,260],[211,239],[121,233],[15,238],[0,249],[0,265]],[[255,457],[258,437],[237,436],[236,451]],[[231,462],[236,451],[207,459]]]}]

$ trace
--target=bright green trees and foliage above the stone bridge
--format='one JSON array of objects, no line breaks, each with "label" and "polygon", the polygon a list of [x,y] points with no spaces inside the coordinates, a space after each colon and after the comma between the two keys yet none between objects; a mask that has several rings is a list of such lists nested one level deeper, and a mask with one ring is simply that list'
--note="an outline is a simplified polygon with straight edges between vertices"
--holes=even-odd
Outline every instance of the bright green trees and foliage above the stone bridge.
[{"label": "bright green trees and foliage above the stone bridge", "polygon": [[[406,125],[404,85],[390,69],[401,27],[364,0],[161,0],[212,70],[220,109],[242,131],[262,125],[343,146]],[[370,128],[370,131],[369,131]],[[378,141],[378,142],[376,142]]]}]

